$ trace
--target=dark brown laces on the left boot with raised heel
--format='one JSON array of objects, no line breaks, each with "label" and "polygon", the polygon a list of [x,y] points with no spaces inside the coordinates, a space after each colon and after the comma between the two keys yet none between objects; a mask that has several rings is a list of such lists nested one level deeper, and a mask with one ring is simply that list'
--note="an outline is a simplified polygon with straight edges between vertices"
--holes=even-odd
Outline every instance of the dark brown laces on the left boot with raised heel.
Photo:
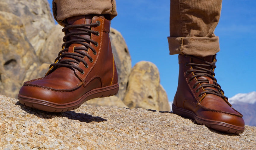
[{"label": "dark brown laces on the left boot with raised heel", "polygon": [[[65,36],[63,38],[64,43],[62,44],[62,49],[58,57],[55,59],[55,63],[50,65],[50,68],[57,68],[58,66],[64,66],[64,67],[69,67],[69,68],[74,68],[80,71],[80,73],[84,73],[84,71],[78,67],[77,65],[80,62],[83,62],[84,66],[87,68],[88,64],[87,62],[83,59],[85,56],[89,58],[89,61],[92,62],[92,57],[80,50],[85,50],[88,51],[90,48],[93,52],[94,55],[96,55],[96,50],[90,46],[89,44],[92,43],[95,46],[98,46],[98,43],[96,41],[93,41],[92,39],[85,38],[81,35],[99,35],[98,31],[93,31],[91,30],[92,26],[99,26],[100,22],[97,21],[96,23],[91,23],[91,24],[82,24],[82,25],[69,25],[67,23],[65,24],[65,28],[62,29],[62,32],[65,33]],[[77,32],[69,32],[70,29],[75,29]],[[75,39],[71,39],[71,37],[75,37]],[[68,47],[71,44],[81,44],[85,47],[74,47],[74,52],[68,52]],[[62,58],[72,58],[72,59],[62,59]],[[74,64],[75,63],[75,64]],[[53,69],[52,69],[53,70]]]}]

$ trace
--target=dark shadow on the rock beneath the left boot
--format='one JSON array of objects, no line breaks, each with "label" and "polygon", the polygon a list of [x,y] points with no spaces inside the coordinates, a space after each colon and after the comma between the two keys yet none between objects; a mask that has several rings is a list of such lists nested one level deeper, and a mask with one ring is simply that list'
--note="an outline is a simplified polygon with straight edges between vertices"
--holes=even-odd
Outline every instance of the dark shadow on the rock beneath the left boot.
[{"label": "dark shadow on the rock beneath the left boot", "polygon": [[80,122],[86,122],[86,123],[107,121],[107,119],[103,119],[103,118],[98,117],[98,116],[94,117],[92,115],[83,114],[83,113],[76,113],[74,111],[53,113],[53,112],[46,112],[46,111],[42,111],[42,110],[37,110],[37,109],[31,108],[31,107],[27,107],[23,104],[20,104],[19,101],[17,101],[15,105],[20,106],[20,108],[22,110],[24,110],[25,112],[30,113],[32,115],[35,115],[35,116],[37,116],[39,118],[42,118],[42,119],[52,119],[54,117],[66,117],[66,118],[71,119],[71,120],[78,120]]}]

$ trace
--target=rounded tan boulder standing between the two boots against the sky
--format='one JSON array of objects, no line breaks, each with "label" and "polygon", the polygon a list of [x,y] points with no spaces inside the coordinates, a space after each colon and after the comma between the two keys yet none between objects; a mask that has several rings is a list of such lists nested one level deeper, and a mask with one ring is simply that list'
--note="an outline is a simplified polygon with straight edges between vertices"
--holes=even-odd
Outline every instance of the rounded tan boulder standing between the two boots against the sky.
[{"label": "rounded tan boulder standing between the two boots against the sky", "polygon": [[135,64],[130,73],[123,102],[129,108],[170,111],[167,96],[164,94],[166,93],[160,86],[156,65],[148,61],[140,61]]}]

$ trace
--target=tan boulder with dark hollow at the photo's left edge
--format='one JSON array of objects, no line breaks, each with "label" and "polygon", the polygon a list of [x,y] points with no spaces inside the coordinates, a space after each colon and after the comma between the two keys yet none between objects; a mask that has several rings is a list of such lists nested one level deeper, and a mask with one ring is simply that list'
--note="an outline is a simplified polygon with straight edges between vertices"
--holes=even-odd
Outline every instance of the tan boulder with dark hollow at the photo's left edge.
[{"label": "tan boulder with dark hollow at the photo's left edge", "polygon": [[20,17],[0,11],[0,93],[17,97],[25,74],[38,65]]}]

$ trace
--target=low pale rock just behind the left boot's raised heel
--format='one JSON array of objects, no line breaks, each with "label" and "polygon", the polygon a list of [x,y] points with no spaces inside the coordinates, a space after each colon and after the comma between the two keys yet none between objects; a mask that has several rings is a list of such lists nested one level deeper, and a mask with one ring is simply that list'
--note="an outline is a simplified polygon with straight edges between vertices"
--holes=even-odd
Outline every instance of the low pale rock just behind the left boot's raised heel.
[{"label": "low pale rock just behind the left boot's raised heel", "polygon": [[105,98],[94,98],[86,101],[85,104],[92,106],[117,106],[122,108],[128,108],[123,101],[117,96],[110,96]]}]

